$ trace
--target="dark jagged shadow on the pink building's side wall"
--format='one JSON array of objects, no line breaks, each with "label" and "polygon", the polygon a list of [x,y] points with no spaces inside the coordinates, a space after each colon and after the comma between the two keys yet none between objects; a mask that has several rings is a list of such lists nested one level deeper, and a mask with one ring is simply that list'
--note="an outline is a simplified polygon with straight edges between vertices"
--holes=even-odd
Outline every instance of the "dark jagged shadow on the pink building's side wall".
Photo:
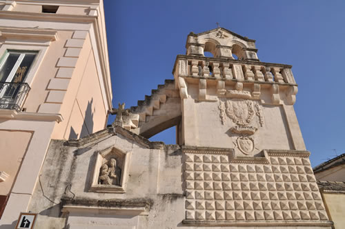
[{"label": "dark jagged shadow on the pink building's side wall", "polygon": [[[93,115],[94,112],[92,112],[92,103],[93,103],[93,99],[91,99],[91,101],[88,101],[88,106],[86,108],[85,114],[84,114],[84,120],[83,120],[83,126],[81,126],[81,132],[80,135],[77,134],[77,132],[75,131],[75,129],[71,126],[70,127],[70,136],[68,137],[68,139],[78,139],[81,137],[85,137],[87,135],[92,134],[93,132]],[[79,135],[79,137],[78,137]]]}]

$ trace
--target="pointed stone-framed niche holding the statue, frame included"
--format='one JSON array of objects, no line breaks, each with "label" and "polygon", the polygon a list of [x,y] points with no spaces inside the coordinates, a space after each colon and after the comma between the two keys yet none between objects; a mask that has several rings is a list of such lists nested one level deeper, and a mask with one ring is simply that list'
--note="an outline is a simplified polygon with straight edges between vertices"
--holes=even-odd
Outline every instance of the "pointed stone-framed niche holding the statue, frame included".
[{"label": "pointed stone-framed niche holding the statue, frame included", "polygon": [[126,192],[130,152],[112,147],[96,154],[90,192]]}]

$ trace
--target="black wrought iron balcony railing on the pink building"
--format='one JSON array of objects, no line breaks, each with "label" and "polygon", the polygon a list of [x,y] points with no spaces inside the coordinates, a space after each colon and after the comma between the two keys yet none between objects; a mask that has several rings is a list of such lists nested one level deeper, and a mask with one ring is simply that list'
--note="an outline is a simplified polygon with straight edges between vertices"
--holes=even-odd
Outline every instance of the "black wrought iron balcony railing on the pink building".
[{"label": "black wrought iron balcony railing on the pink building", "polygon": [[0,109],[21,111],[29,91],[28,83],[0,82]]}]

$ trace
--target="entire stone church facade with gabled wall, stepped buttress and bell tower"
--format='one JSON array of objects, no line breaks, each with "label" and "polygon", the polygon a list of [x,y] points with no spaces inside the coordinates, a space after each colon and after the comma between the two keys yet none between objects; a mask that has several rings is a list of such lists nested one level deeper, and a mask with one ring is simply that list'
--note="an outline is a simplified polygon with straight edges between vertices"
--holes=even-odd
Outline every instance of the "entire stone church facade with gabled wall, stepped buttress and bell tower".
[{"label": "entire stone church facade with gabled wall, stepped buttress and bell tower", "polygon": [[[331,228],[291,66],[224,28],[186,48],[175,80],[119,104],[111,127],[50,143],[28,208],[37,228]],[[177,145],[146,139],[172,126]]]}]

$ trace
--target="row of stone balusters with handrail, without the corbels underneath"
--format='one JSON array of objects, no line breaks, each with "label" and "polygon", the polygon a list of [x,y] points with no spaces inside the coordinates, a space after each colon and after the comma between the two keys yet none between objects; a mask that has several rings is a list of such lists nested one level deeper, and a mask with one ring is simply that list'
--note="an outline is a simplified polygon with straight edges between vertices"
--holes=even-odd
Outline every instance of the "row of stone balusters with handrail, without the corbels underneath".
[{"label": "row of stone balusters with handrail, without the corbels underneath", "polygon": [[[176,72],[177,66],[178,72]],[[291,67],[277,63],[178,55],[172,73],[174,75],[178,73],[179,77],[275,82],[295,85]]]}]

